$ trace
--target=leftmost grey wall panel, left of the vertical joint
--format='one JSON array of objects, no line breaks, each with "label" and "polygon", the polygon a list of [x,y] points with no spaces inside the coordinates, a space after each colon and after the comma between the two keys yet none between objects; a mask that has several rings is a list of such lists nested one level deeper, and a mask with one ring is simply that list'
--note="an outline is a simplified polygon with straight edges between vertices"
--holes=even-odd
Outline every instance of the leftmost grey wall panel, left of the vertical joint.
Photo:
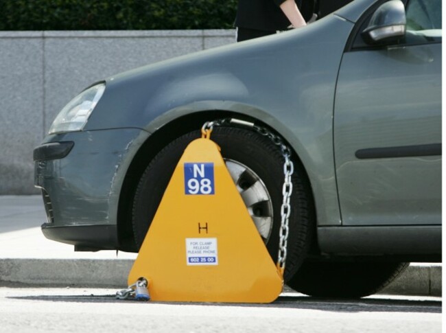
[{"label": "leftmost grey wall panel, left of the vertical joint", "polygon": [[0,194],[32,192],[43,136],[43,43],[34,36],[0,38]]}]

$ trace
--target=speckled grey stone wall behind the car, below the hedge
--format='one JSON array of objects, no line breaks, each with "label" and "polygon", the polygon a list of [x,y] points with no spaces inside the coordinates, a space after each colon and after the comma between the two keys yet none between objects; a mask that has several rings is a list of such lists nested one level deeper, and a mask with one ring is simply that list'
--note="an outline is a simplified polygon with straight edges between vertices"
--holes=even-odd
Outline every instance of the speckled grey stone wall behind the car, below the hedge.
[{"label": "speckled grey stone wall behind the car, below the hedge", "polygon": [[0,195],[38,193],[32,151],[85,87],[234,42],[234,30],[0,32]]}]

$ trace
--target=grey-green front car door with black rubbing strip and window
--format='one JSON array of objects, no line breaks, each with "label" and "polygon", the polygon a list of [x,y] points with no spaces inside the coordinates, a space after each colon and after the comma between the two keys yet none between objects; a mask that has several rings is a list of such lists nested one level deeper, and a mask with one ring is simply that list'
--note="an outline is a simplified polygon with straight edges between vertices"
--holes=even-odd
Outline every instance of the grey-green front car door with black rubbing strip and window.
[{"label": "grey-green front car door with black rubbing strip and window", "polygon": [[370,12],[342,57],[333,140],[343,225],[441,224],[441,0],[404,3],[406,38],[367,45]]}]

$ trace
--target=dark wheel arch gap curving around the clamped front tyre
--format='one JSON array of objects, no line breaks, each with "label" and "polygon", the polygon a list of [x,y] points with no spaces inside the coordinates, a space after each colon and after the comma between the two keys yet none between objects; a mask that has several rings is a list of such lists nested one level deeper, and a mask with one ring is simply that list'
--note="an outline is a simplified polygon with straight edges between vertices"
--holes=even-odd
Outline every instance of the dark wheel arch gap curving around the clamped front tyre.
[{"label": "dark wheel arch gap curving around the clamped front tyre", "polygon": [[[246,108],[248,108],[248,106],[246,106]],[[191,108],[189,108],[189,110],[190,109]],[[126,172],[124,183],[121,187],[121,192],[119,195],[117,210],[117,236],[119,240],[119,250],[130,252],[137,251],[131,222],[132,198],[134,196],[134,191],[137,188],[139,179],[141,178],[145,168],[147,168],[148,163],[150,163],[156,154],[160,152],[169,142],[173,141],[177,137],[180,137],[181,135],[200,129],[204,122],[213,119],[236,118],[246,122],[255,122],[256,124],[265,126],[266,128],[272,130],[272,132],[281,135],[294,152],[294,163],[301,164],[302,169],[305,172],[305,177],[311,187],[312,198],[315,200],[313,188],[311,182],[309,181],[307,168],[305,168],[305,165],[303,164],[301,157],[299,157],[298,152],[296,152],[296,149],[290,144],[290,139],[287,139],[291,133],[287,133],[288,135],[283,135],[283,133],[280,133],[274,128],[275,126],[273,127],[271,124],[266,124],[266,122],[261,120],[268,118],[271,119],[270,115],[268,115],[268,117],[260,117],[260,115],[263,115],[262,111],[257,111],[257,114],[255,115],[248,115],[246,113],[222,109],[208,109],[199,111],[195,109],[195,112],[191,113],[187,113],[185,110],[185,108],[182,108],[180,110],[174,110],[166,113],[145,127],[145,130],[148,130],[152,134],[141,145],[137,154],[134,155]],[[316,209],[314,209],[314,216],[316,216]],[[314,235],[316,236],[316,223],[314,224]],[[314,237],[314,242],[314,246],[317,246],[316,237]],[[313,249],[315,248],[314,246],[312,246]]]}]

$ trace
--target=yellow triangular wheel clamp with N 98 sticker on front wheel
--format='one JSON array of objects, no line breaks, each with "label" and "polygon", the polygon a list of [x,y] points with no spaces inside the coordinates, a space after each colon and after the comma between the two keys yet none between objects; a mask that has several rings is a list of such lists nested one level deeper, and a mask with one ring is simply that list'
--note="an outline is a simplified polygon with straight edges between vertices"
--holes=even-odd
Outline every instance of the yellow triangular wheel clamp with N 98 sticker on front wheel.
[{"label": "yellow triangular wheel clamp with N 98 sticker on front wheel", "polygon": [[128,284],[146,279],[153,301],[270,303],[283,288],[283,270],[210,136],[203,129],[176,165]]}]

